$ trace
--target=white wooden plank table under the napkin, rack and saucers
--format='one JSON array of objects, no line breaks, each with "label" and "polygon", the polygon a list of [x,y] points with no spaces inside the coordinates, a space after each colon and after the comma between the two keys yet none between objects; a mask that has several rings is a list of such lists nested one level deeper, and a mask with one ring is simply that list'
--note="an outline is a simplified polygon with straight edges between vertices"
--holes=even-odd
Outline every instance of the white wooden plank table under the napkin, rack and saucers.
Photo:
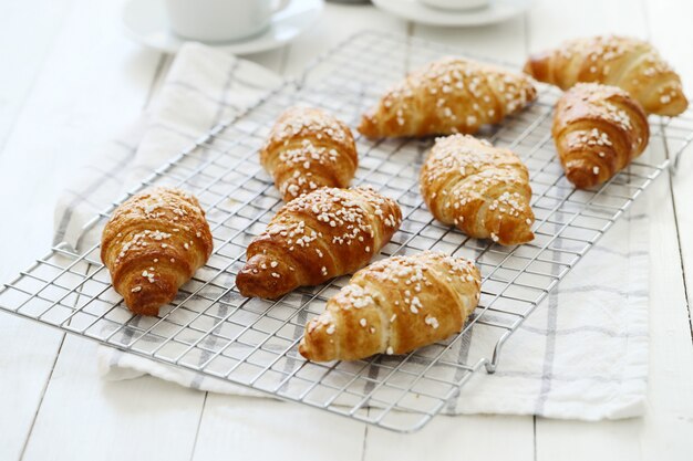
[{"label": "white wooden plank table under the napkin, rack and saucers", "polygon": [[[130,42],[121,1],[0,2],[0,282],[51,243],[56,195],[100,144],[134,121],[172,57]],[[693,96],[693,1],[536,0],[480,29],[433,29],[372,7],[327,6],[291,45],[250,56],[286,75],[363,29],[422,36],[520,63],[576,35],[648,38]],[[693,157],[647,193],[651,357],[647,415],[596,423],[438,417],[399,436],[298,405],[206,395],[141,378],[104,383],[95,344],[0,314],[0,460],[690,460]],[[687,279],[686,279],[687,276]],[[686,284],[687,282],[687,284]]]}]

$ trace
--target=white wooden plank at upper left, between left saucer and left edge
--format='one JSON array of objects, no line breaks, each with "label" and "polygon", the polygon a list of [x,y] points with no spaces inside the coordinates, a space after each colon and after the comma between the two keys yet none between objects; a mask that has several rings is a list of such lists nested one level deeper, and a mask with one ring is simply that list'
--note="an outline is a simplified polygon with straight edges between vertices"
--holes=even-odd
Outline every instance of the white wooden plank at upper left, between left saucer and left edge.
[{"label": "white wooden plank at upper left, between left saucer and left edge", "polygon": [[[0,241],[8,266],[24,266],[44,252],[55,198],[70,185],[71,172],[134,121],[146,101],[159,54],[123,36],[113,20],[117,7],[75,4],[8,138],[0,196],[13,197],[6,212],[19,218]],[[32,251],[15,251],[18,239]]]}]

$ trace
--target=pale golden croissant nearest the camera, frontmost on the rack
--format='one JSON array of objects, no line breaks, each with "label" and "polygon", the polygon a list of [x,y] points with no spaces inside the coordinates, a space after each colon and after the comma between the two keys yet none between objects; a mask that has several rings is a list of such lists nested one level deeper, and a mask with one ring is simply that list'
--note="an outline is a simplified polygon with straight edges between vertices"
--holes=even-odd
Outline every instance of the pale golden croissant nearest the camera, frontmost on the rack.
[{"label": "pale golden croissant nearest the camera, frontmost on the rack", "polygon": [[314,362],[405,354],[462,331],[479,301],[479,271],[436,252],[394,256],[356,272],[306,325],[299,353]]}]

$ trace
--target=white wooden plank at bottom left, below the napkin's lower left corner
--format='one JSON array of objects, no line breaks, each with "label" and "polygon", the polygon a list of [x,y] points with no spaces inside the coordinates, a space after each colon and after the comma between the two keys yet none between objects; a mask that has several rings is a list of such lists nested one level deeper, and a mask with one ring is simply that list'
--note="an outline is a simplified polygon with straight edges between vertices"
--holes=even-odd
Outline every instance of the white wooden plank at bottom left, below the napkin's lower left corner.
[{"label": "white wooden plank at bottom left, below the napkin's lower left corner", "polygon": [[189,460],[203,394],[152,377],[102,381],[96,345],[69,336],[23,460]]}]

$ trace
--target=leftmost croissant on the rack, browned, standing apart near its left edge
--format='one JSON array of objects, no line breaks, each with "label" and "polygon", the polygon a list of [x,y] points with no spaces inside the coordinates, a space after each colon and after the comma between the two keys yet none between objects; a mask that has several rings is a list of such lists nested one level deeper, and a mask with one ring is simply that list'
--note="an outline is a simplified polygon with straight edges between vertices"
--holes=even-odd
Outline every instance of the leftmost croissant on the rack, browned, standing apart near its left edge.
[{"label": "leftmost croissant on the rack, browned, standing apart near its left edge", "polygon": [[115,209],[103,230],[101,260],[132,312],[157,315],[207,262],[211,249],[209,224],[197,199],[157,187]]}]

